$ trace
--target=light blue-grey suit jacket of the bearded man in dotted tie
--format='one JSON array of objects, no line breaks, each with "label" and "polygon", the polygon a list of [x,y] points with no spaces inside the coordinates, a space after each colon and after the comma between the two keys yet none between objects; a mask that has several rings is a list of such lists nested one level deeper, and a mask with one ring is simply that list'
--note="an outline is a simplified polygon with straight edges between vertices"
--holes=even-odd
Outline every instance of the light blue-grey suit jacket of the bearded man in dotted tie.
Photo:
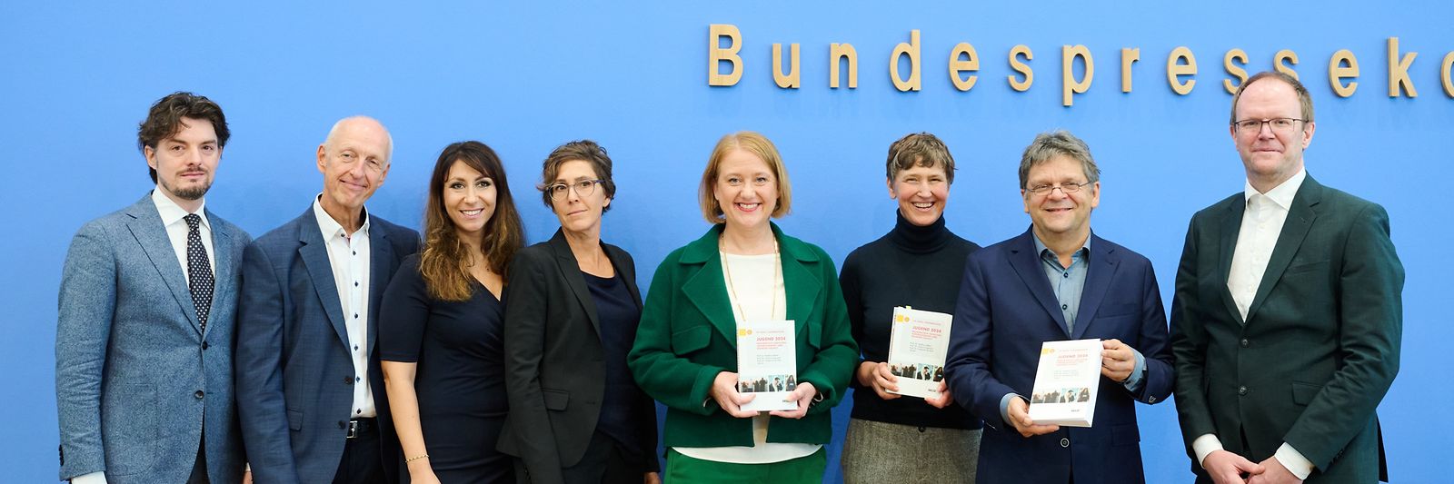
[{"label": "light blue-grey suit jacket of the bearded man in dotted tie", "polygon": [[208,477],[241,480],[231,349],[249,237],[205,215],[217,266],[205,333],[150,195],[71,240],[55,327],[61,480],[183,483],[204,427]]}]

